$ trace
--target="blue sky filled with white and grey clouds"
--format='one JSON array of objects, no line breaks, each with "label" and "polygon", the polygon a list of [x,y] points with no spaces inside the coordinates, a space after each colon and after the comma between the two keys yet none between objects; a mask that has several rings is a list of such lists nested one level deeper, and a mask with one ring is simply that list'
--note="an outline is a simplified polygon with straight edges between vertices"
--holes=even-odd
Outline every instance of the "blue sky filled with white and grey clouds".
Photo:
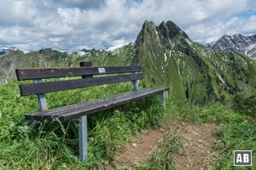
[{"label": "blue sky filled with white and grey clouds", "polygon": [[0,47],[107,48],[136,39],[145,20],[172,20],[197,42],[256,34],[255,0],[1,0]]}]

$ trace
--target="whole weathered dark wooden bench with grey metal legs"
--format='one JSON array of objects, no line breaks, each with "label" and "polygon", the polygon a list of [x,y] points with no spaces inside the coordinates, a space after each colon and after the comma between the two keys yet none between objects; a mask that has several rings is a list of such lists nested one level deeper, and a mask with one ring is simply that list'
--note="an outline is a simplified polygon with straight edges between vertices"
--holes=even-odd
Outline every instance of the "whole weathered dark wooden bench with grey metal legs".
[{"label": "whole weathered dark wooden bench with grey metal legs", "polygon": [[[105,77],[93,77],[96,75],[105,75]],[[91,66],[90,62],[80,62],[80,67],[77,68],[17,69],[16,76],[19,81],[33,80],[33,83],[20,84],[20,94],[22,96],[38,96],[38,111],[25,115],[26,119],[42,121],[44,119],[58,118],[61,121],[68,121],[79,118],[81,120],[79,124],[80,161],[84,161],[87,157],[87,115],[154,94],[161,94],[162,105],[165,106],[165,91],[168,90],[168,88],[138,90],[138,80],[143,79],[141,66],[94,67]],[[56,77],[82,78],[55,82],[42,81],[42,79]],[[45,97],[47,93],[117,82],[132,82],[133,91],[116,95],[111,99],[97,99],[48,110]]]}]

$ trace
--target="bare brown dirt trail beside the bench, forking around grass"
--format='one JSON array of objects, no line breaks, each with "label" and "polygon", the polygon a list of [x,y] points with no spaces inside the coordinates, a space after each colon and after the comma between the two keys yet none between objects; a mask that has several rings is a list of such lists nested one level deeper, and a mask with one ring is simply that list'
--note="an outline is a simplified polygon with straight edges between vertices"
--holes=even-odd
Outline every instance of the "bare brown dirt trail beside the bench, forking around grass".
[{"label": "bare brown dirt trail beside the bench, forking around grass", "polygon": [[214,156],[211,155],[214,145],[215,124],[192,125],[181,121],[172,121],[165,128],[149,129],[137,133],[119,156],[114,158],[113,166],[107,169],[135,167],[140,161],[148,161],[150,155],[160,146],[162,140],[171,136],[177,128],[184,139],[184,156],[174,156],[177,167],[186,169],[207,169],[211,166]]}]

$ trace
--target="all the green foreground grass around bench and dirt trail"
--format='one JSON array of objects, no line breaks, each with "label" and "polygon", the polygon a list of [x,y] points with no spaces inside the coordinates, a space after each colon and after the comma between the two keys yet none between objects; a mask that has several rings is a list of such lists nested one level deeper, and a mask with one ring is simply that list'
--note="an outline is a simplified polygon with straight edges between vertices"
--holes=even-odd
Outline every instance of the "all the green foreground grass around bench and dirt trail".
[{"label": "all the green foreground grass around bench and dirt trail", "polygon": [[[129,90],[130,83],[120,83],[108,88],[100,86],[48,94],[47,99],[49,108],[55,108],[108,98]],[[246,111],[239,113],[218,103],[198,106],[167,101],[167,117],[164,118],[160,97],[155,96],[89,116],[89,156],[82,163],[78,159],[79,120],[33,124],[23,116],[36,111],[35,97],[20,97],[16,82],[0,87],[0,94],[1,169],[102,169],[111,164],[120,147],[134,133],[144,128],[163,126],[165,121],[175,118],[192,124],[212,122],[218,125],[213,153],[218,157],[212,169],[234,169],[233,150],[253,150],[253,163],[256,163],[256,126],[253,118],[248,119]],[[141,162],[136,168],[177,169],[173,156],[182,154],[183,138],[177,131],[163,140],[150,161]]]}]

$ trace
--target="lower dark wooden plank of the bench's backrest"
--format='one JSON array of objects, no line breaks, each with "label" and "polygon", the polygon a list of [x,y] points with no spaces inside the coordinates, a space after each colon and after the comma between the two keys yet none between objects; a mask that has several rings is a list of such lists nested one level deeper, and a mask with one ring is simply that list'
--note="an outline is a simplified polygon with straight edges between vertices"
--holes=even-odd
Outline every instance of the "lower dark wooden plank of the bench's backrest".
[{"label": "lower dark wooden plank of the bench's backrest", "polygon": [[49,92],[57,92],[74,88],[85,88],[90,86],[97,86],[103,84],[111,84],[116,82],[128,82],[132,80],[143,79],[143,74],[129,74],[112,77],[96,77],[96,78],[85,78],[79,80],[66,80],[58,82],[40,82],[32,84],[21,84],[20,94],[22,96],[33,95],[33,94],[46,94]]}]

